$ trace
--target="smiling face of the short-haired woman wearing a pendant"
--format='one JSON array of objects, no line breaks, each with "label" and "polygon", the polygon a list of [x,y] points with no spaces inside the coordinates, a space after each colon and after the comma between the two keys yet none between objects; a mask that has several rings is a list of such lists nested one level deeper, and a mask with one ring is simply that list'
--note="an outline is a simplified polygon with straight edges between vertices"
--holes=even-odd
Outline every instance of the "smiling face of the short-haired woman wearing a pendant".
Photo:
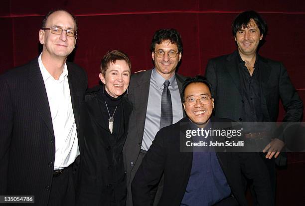
[{"label": "smiling face of the short-haired woman wearing a pendant", "polygon": [[99,77],[105,84],[107,93],[117,98],[124,94],[129,85],[131,71],[125,60],[110,62],[105,76],[100,73]]}]

